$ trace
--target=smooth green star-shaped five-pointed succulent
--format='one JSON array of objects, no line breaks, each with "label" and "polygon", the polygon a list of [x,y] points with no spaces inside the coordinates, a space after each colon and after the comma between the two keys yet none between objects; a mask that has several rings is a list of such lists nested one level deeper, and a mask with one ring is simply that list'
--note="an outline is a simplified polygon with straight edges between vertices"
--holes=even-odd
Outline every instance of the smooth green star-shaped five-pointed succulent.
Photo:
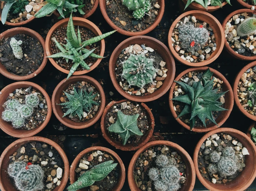
[{"label": "smooth green star-shaped five-pointed succulent", "polygon": [[139,114],[125,115],[122,111],[117,112],[117,121],[108,127],[109,132],[118,133],[122,138],[123,145],[133,135],[143,135],[137,126]]}]

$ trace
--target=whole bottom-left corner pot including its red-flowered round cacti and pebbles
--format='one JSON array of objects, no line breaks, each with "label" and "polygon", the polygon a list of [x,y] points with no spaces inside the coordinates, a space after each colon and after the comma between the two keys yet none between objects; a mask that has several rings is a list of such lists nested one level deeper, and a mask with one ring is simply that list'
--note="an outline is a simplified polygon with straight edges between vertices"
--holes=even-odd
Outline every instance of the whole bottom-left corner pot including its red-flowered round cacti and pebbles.
[{"label": "whole bottom-left corner pot including its red-flowered round cacti and pebbles", "polygon": [[2,191],[63,191],[69,162],[63,149],[43,137],[18,139],[0,157]]}]

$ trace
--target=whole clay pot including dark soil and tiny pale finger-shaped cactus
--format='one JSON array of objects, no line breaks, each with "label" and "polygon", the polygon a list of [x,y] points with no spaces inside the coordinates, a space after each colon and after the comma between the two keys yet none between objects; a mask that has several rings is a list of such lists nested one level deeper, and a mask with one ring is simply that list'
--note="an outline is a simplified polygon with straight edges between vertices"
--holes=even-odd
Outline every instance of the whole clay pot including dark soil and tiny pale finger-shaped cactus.
[{"label": "whole clay pot including dark soil and tiny pale finger-shaped cactus", "polygon": [[38,75],[47,58],[44,39],[37,32],[18,27],[0,34],[0,73],[13,80]]}]

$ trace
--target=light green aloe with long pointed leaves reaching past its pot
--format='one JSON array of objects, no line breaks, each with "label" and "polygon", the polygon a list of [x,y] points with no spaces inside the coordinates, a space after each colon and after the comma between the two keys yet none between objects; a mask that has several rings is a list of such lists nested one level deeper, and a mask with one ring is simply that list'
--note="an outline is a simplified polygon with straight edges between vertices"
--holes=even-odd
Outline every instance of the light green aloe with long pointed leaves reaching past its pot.
[{"label": "light green aloe with long pointed leaves reaching past its pot", "polygon": [[[73,24],[73,19],[72,19],[72,13],[71,13],[69,22],[68,22],[68,26],[67,26],[67,38],[68,39],[65,39],[67,41],[67,44],[60,44],[57,40],[54,39],[56,46],[59,48],[59,50],[61,52],[53,54],[51,56],[48,56],[47,58],[65,58],[67,63],[68,63],[69,59],[73,60],[74,64],[71,67],[68,77],[67,77],[67,79],[69,79],[69,77],[77,70],[77,67],[79,65],[81,65],[86,70],[90,70],[90,67],[84,61],[87,57],[91,56],[94,58],[104,58],[102,56],[99,56],[99,55],[93,53],[95,49],[87,50],[84,47],[86,47],[90,44],[93,44],[95,42],[98,42],[98,41],[104,39],[105,37],[113,34],[114,32],[115,32],[115,30],[111,31],[111,32],[107,32],[105,34],[101,34],[100,36],[97,36],[97,37],[94,37],[94,38],[91,38],[89,40],[82,42],[79,27],[77,30],[78,36],[76,35],[76,31],[74,29],[74,24]],[[64,46],[65,48],[63,48],[62,46]],[[82,53],[84,53],[84,54],[82,54]]]}]

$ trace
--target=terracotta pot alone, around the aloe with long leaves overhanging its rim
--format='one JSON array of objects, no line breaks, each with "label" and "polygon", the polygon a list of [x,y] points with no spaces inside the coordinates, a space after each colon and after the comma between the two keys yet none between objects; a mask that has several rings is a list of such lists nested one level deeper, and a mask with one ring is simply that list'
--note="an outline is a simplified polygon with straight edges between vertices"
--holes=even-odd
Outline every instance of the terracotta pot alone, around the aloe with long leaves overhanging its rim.
[{"label": "terracotta pot alone, around the aloe with long leaves overhanging its rim", "polygon": [[[51,56],[52,55],[52,51],[51,51],[51,38],[52,38],[52,34],[53,32],[60,28],[60,27],[67,27],[68,26],[68,22],[69,22],[69,18],[65,18],[60,20],[59,22],[55,23],[52,28],[50,29],[50,31],[47,33],[46,36],[46,40],[45,40],[45,49],[46,49],[46,54],[47,56]],[[89,30],[91,30],[96,36],[101,35],[102,33],[100,32],[99,28],[92,23],[91,21],[87,20],[87,19],[83,19],[80,17],[73,17],[73,23],[74,26],[76,28],[76,26],[79,27],[84,27],[87,28]],[[99,45],[100,45],[100,56],[104,55],[104,51],[105,51],[105,41],[104,39],[102,39],[101,41],[99,41]],[[58,70],[60,70],[61,72],[64,72],[66,74],[69,73],[69,70],[65,70],[64,68],[60,67],[53,58],[49,58],[50,62],[53,64],[53,66],[55,68],[57,68]],[[90,71],[92,71],[93,69],[95,69],[100,61],[102,60],[102,58],[99,58],[90,68],[90,70],[82,70],[82,71],[76,71],[74,72],[72,75],[81,75],[81,74],[85,74],[88,73]]]}]

